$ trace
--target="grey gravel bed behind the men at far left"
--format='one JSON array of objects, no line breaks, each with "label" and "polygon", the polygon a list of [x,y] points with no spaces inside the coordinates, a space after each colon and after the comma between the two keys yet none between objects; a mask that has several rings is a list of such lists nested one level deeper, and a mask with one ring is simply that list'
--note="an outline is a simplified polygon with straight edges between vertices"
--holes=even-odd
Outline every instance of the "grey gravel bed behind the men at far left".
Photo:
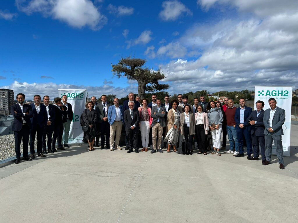
[{"label": "grey gravel bed behind the men at far left", "polygon": [[[30,139],[30,137],[29,137]],[[47,138],[46,138],[47,140]],[[35,136],[35,150],[37,149],[37,136]],[[30,146],[28,145],[28,152]],[[23,142],[21,142],[21,153],[23,153]],[[15,136],[14,134],[0,136],[0,161],[15,157]]]}]

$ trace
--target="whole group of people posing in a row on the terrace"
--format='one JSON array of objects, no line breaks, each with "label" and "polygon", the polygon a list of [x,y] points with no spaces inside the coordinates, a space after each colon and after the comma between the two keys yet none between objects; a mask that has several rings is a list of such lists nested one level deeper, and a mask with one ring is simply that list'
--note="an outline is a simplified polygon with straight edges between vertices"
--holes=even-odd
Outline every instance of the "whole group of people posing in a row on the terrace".
[{"label": "whole group of people posing in a row on the terrace", "polygon": [[[23,138],[23,159],[34,157],[34,140],[37,133],[38,156],[44,157],[46,152],[46,136],[48,137],[48,153],[54,153],[56,140],[57,149],[65,149],[67,145],[70,122],[72,121],[72,107],[67,103],[67,96],[55,98],[54,105],[49,104],[49,96],[44,96],[41,104],[39,95],[34,96],[34,104],[24,104],[25,95],[18,94],[17,101],[11,111],[15,120],[13,131],[15,134],[16,163],[20,162],[20,143]],[[261,149],[262,164],[271,164],[272,141],[276,146],[280,169],[283,165],[283,135],[282,125],[285,122],[285,110],[277,107],[276,100],[268,100],[270,109],[263,110],[265,103],[256,102],[256,110],[246,106],[244,98],[239,99],[240,107],[234,106],[234,101],[224,99],[224,104],[213,100],[208,103],[204,95],[194,98],[193,105],[188,103],[186,95],[179,94],[177,100],[171,102],[169,95],[164,97],[164,103],[156,94],[148,99],[141,99],[128,94],[128,100],[119,105],[119,99],[114,98],[114,105],[108,103],[107,96],[101,95],[101,102],[95,96],[86,103],[86,109],[81,116],[81,126],[89,143],[89,151],[100,149],[113,151],[122,150],[119,146],[122,125],[125,127],[125,150],[127,153],[138,149],[138,134],[140,130],[142,150],[148,152],[149,143],[152,144],[151,153],[167,153],[192,155],[194,137],[198,145],[198,154],[207,155],[208,134],[211,135],[213,151],[211,154],[221,156],[221,150],[226,149],[226,135],[229,139],[229,150],[235,157],[244,156],[244,139],[247,147],[247,159],[259,160]],[[64,147],[62,134],[65,130]],[[51,137],[53,133],[53,138]],[[28,138],[30,134],[30,158],[26,156]],[[223,141],[221,142],[221,136]],[[51,139],[52,138],[52,139]],[[27,140],[27,141],[26,141]],[[27,142],[27,144],[26,144]],[[27,147],[26,147],[27,145]],[[210,149],[209,149],[210,150]]]}]

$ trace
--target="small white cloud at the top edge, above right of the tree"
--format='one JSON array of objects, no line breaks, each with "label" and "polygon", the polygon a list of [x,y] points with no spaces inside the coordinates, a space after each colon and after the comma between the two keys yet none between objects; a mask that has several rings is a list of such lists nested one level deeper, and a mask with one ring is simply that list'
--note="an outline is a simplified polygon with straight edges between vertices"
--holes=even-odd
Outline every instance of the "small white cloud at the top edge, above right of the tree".
[{"label": "small white cloud at the top edge, above right of the tree", "polygon": [[159,17],[164,21],[174,21],[182,14],[193,15],[184,4],[177,0],[164,1],[162,7],[163,10],[159,13]]}]

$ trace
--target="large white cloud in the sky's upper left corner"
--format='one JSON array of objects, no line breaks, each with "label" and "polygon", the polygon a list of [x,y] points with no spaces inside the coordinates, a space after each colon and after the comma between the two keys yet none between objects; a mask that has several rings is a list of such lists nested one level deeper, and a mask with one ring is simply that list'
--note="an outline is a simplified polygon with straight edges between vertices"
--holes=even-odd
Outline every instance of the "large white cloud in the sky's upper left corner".
[{"label": "large white cloud in the sky's upper left corner", "polygon": [[51,16],[76,28],[89,26],[98,30],[107,23],[106,16],[101,15],[90,0],[31,0],[27,4],[16,0],[16,5],[18,10],[27,15],[40,12],[46,17]]}]

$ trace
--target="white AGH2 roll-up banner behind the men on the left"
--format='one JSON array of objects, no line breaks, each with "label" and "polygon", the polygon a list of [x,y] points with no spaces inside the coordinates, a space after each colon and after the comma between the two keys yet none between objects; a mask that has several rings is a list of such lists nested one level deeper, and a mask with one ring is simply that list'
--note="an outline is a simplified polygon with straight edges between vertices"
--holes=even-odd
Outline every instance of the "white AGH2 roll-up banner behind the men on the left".
[{"label": "white AGH2 roll-up banner behind the men on the left", "polygon": [[[62,98],[67,96],[67,103],[72,105],[73,118],[70,124],[68,144],[82,143],[83,131],[80,125],[80,116],[85,109],[86,89],[58,89],[58,95]],[[64,131],[62,142],[64,142]]]}]

